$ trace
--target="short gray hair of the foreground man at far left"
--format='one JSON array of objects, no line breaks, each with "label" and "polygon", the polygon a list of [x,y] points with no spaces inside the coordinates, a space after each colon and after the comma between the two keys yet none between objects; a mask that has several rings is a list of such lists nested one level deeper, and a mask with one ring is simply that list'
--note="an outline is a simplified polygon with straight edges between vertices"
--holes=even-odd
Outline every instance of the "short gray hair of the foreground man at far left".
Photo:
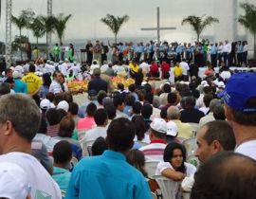
[{"label": "short gray hair of the foreground man at far left", "polygon": [[31,141],[41,122],[39,107],[24,94],[9,94],[0,98],[0,122],[10,121],[15,132]]}]

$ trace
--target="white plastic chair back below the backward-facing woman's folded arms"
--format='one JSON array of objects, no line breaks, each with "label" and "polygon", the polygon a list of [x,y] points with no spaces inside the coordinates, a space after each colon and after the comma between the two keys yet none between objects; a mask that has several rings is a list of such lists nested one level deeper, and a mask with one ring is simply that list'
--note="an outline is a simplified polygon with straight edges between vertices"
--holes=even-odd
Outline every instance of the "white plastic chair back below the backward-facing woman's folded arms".
[{"label": "white plastic chair back below the backward-facing woman's folded arms", "polygon": [[176,195],[179,191],[179,182],[175,182],[162,175],[154,175],[152,178],[156,180],[163,199],[176,199]]}]

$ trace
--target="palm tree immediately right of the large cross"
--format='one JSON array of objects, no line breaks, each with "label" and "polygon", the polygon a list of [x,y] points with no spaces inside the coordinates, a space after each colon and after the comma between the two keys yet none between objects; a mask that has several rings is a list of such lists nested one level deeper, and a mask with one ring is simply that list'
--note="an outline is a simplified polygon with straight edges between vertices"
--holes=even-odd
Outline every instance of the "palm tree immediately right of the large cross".
[{"label": "palm tree immediately right of the large cross", "polygon": [[184,24],[190,24],[192,26],[192,28],[195,31],[196,36],[197,36],[197,42],[199,42],[199,37],[200,37],[202,31],[206,27],[210,26],[213,23],[219,23],[219,20],[217,18],[213,18],[211,16],[208,16],[206,18],[205,17],[206,17],[205,14],[201,17],[191,15],[191,16],[184,18],[181,22],[182,26]]}]

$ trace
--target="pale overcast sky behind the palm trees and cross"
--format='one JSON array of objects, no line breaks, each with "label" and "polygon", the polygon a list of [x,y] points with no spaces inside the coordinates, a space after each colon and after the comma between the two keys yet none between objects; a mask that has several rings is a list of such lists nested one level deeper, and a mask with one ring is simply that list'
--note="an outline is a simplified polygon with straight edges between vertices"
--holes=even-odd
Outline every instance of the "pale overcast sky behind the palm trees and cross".
[{"label": "pale overcast sky behind the palm trees and cross", "polygon": [[[33,9],[36,14],[46,14],[46,0],[12,0],[12,14],[18,16],[22,9]],[[112,32],[104,26],[100,19],[107,13],[130,16],[128,23],[120,29],[119,37],[152,37],[155,31],[141,31],[140,27],[156,26],[156,7],[160,8],[161,27],[176,27],[176,30],[161,32],[163,38],[191,42],[195,34],[190,26],[181,26],[181,20],[188,15],[208,14],[217,17],[219,24],[209,27],[204,35],[215,35],[214,40],[232,40],[233,0],[52,0],[53,13],[72,14],[67,24],[64,39],[86,39],[113,37]],[[238,3],[242,0],[238,0]],[[253,2],[253,0],[251,1]],[[2,17],[0,26],[0,40],[5,41],[6,1],[2,0]],[[238,9],[238,13],[241,10]],[[238,26],[238,33],[245,34],[245,30]],[[12,37],[18,34],[17,28],[12,26]],[[27,30],[23,30],[27,35]],[[31,33],[29,38],[32,37]],[[54,38],[53,38],[54,39]],[[212,39],[213,40],[213,39]]]}]

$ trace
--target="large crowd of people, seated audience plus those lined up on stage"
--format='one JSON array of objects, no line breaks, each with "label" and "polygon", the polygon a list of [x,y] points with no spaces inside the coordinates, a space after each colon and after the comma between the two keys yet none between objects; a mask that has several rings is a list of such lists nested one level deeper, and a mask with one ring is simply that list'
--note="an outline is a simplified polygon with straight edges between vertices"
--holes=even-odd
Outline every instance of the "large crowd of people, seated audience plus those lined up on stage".
[{"label": "large crowd of people, seated audience plus those lined up on stage", "polygon": [[[9,67],[0,79],[0,198],[152,198],[149,161],[155,175],[180,182],[177,198],[254,198],[256,74],[229,70],[247,65],[246,51],[246,42],[97,41],[86,63],[55,45],[52,60]],[[134,83],[114,87],[114,76]],[[67,86],[76,80],[88,81],[82,103]],[[187,161],[192,137],[199,169]]]}]

